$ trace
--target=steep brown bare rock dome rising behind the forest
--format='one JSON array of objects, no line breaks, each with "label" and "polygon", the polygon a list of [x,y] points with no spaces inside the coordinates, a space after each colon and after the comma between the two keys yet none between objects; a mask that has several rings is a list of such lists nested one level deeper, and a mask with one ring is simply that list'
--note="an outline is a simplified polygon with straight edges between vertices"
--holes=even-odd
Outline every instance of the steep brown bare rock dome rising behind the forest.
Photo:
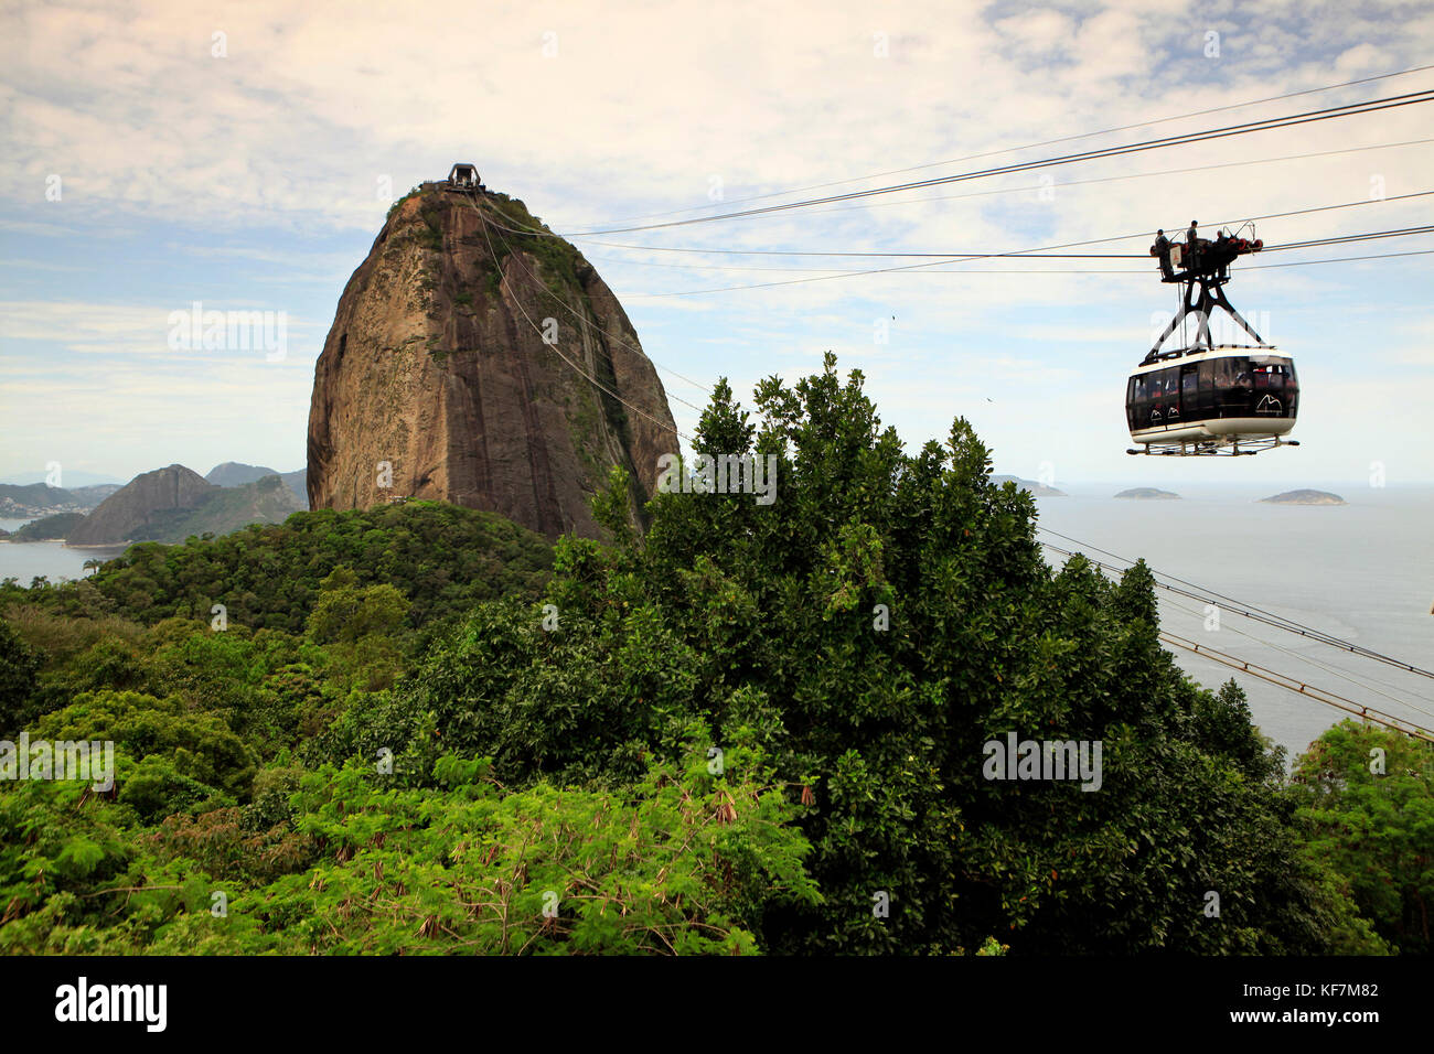
[{"label": "steep brown bare rock dome rising behind the forest", "polygon": [[663,383],[582,254],[502,194],[426,184],[394,206],[314,367],[311,508],[426,498],[599,538],[611,467],[641,523],[675,450]]}]

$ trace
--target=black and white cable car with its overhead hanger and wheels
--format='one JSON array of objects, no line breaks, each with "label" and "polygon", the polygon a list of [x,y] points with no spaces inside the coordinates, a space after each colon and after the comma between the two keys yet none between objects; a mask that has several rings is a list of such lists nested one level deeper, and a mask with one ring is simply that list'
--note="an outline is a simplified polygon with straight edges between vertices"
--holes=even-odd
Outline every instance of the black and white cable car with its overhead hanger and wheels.
[{"label": "black and white cable car with its overhead hanger and wheels", "polygon": [[[1150,247],[1150,255],[1160,260],[1160,281],[1183,285],[1184,300],[1126,383],[1126,423],[1130,439],[1141,446],[1126,453],[1235,456],[1299,446],[1285,439],[1299,409],[1295,361],[1266,344],[1225,297],[1230,264],[1259,252],[1265,242],[1225,231],[1210,241],[1195,237],[1195,229],[1192,222],[1184,245],[1166,241],[1162,231]],[[1215,344],[1210,311],[1216,307],[1256,343]],[[1195,343],[1162,351],[1186,315],[1197,321]]]}]

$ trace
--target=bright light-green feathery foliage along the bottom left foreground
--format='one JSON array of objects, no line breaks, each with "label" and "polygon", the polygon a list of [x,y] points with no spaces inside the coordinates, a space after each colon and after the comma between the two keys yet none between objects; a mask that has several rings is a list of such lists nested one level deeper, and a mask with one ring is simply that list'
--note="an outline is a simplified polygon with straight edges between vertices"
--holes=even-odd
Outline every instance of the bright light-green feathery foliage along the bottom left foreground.
[{"label": "bright light-green feathery foliage along the bottom left foreground", "polygon": [[0,796],[0,949],[750,954],[753,905],[819,893],[784,796],[714,789],[703,764],[607,794],[503,793],[452,756],[439,792],[321,769],[294,794],[293,833],[245,833],[219,809],[155,840],[126,836],[122,804],[26,784]]}]

